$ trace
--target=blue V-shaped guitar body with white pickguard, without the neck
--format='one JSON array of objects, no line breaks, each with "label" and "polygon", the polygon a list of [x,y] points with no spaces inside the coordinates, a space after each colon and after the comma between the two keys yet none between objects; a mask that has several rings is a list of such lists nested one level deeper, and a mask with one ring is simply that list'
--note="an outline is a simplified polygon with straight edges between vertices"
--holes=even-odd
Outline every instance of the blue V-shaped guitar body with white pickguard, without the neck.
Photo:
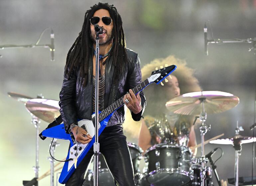
[{"label": "blue V-shaped guitar body with white pickguard, without the neck", "polygon": [[[107,116],[104,120],[102,120],[100,122],[99,135],[102,133],[102,131],[107,126],[107,123],[112,115],[113,115],[113,113],[111,115]],[[67,180],[70,178],[71,174],[74,172],[74,170],[76,168],[75,167],[75,158],[77,157],[76,165],[78,166],[79,163],[82,161],[83,157],[86,155],[86,153],[89,151],[89,149],[93,146],[93,143],[95,142],[95,135],[94,135],[95,131],[93,131],[94,127],[93,128],[91,127],[91,125],[93,126],[93,123],[90,120],[78,121],[78,126],[80,126],[80,127],[85,124],[90,125],[90,129],[88,129],[87,132],[89,132],[89,134],[92,136],[92,140],[87,144],[79,144],[78,147],[82,147],[81,150],[74,149],[75,147],[77,148],[77,145],[76,145],[76,143],[75,144],[73,143],[73,140],[71,139],[70,135],[65,133],[65,128],[64,128],[63,123],[60,125],[57,125],[55,127],[52,127],[50,129],[46,129],[42,132],[42,135],[44,137],[70,141],[70,148],[68,150],[66,159],[73,158],[73,160],[66,161],[64,163],[64,166],[63,166],[60,178],[59,178],[59,182],[61,184],[65,184],[67,182]],[[75,156],[75,153],[77,153],[76,154],[77,156]]]}]

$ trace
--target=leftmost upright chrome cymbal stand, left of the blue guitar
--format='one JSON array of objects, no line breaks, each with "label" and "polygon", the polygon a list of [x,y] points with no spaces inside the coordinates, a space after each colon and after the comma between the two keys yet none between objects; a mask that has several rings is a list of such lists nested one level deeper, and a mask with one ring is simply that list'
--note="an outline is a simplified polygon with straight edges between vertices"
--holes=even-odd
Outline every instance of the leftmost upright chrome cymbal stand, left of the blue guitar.
[{"label": "leftmost upright chrome cymbal stand, left of the blue guitar", "polygon": [[32,115],[32,120],[31,123],[35,125],[36,128],[36,166],[33,166],[33,169],[35,171],[36,174],[36,178],[38,178],[38,174],[39,174],[39,128],[40,128],[40,123],[41,121],[38,119],[38,117],[36,117],[35,115]]}]

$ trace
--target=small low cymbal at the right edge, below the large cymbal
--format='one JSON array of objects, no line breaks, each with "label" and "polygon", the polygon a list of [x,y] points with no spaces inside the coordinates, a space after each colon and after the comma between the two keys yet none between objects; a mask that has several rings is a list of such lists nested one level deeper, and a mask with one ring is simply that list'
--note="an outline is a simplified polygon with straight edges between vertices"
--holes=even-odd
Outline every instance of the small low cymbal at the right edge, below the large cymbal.
[{"label": "small low cymbal at the right edge, below the large cymbal", "polygon": [[241,136],[241,135],[235,135],[231,138],[211,140],[210,143],[233,145],[233,144],[251,143],[253,141],[255,142],[256,138],[244,137],[244,136]]}]

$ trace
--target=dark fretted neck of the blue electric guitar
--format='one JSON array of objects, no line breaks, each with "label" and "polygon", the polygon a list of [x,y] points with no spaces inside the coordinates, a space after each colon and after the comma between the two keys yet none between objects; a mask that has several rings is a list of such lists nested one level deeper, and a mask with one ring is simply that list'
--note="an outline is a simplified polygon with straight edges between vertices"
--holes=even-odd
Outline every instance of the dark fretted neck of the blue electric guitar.
[{"label": "dark fretted neck of the blue electric guitar", "polygon": [[[139,85],[134,87],[132,91],[136,95],[138,92],[140,92],[142,89],[144,89],[146,86],[148,86],[150,83],[148,79],[145,79],[143,82],[141,82]],[[108,106],[106,109],[104,109],[101,113],[99,113],[99,122],[104,120],[108,115],[110,115],[112,112],[114,112],[116,109],[124,105],[123,97],[119,98],[117,101],[112,103],[110,106]],[[95,117],[92,118],[93,123],[95,123]]]}]

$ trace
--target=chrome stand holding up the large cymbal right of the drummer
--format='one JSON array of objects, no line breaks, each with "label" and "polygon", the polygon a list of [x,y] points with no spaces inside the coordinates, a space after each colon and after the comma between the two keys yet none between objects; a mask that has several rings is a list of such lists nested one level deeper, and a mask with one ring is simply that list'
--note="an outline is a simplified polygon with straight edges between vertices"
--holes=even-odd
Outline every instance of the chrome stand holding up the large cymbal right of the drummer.
[{"label": "chrome stand holding up the large cymbal right of the drummer", "polygon": [[200,161],[201,161],[201,169],[202,169],[202,175],[201,175],[201,186],[205,185],[205,173],[206,173],[206,158],[204,155],[204,135],[207,133],[207,131],[210,131],[211,126],[207,126],[205,124],[206,118],[207,118],[207,114],[205,112],[204,109],[204,101],[205,98],[199,98],[200,102],[202,103],[202,112],[200,114],[200,121],[202,122],[201,126],[200,126],[200,135],[201,135],[201,157],[200,157]]}]

